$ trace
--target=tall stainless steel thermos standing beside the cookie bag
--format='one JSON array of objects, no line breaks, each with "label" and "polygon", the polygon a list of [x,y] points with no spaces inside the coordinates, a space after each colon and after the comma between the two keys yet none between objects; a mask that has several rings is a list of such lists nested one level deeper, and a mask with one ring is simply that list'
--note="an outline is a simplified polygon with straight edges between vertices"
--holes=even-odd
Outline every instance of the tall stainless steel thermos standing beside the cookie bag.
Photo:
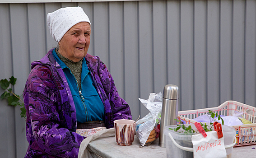
[{"label": "tall stainless steel thermos standing beside the cookie bag", "polygon": [[177,125],[178,116],[178,99],[179,88],[173,84],[167,84],[163,89],[163,105],[160,122],[159,146],[166,148],[165,135],[163,134],[164,127],[167,125]]}]

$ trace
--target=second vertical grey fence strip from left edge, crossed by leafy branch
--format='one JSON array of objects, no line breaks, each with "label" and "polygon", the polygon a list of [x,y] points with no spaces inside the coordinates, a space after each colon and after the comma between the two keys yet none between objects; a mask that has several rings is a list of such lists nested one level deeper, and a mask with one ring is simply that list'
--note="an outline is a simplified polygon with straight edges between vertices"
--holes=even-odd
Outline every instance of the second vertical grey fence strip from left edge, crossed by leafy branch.
[{"label": "second vertical grey fence strip from left edge, crossed by leafy branch", "polygon": [[[12,64],[14,77],[17,78],[14,92],[20,96],[30,72],[27,14],[27,4],[10,4]],[[17,158],[23,158],[28,142],[25,137],[25,119],[20,118],[19,107],[15,107],[15,138]]]}]

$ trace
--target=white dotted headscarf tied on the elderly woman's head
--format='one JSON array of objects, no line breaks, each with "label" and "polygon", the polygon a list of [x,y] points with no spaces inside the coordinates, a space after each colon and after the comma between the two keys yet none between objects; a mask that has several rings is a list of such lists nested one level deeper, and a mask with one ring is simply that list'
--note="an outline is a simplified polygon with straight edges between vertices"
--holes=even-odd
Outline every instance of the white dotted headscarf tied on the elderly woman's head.
[{"label": "white dotted headscarf tied on the elderly woman's head", "polygon": [[[81,7],[66,7],[47,14],[51,37],[59,43],[64,34],[75,24],[90,20]],[[91,26],[91,23],[90,23]]]}]

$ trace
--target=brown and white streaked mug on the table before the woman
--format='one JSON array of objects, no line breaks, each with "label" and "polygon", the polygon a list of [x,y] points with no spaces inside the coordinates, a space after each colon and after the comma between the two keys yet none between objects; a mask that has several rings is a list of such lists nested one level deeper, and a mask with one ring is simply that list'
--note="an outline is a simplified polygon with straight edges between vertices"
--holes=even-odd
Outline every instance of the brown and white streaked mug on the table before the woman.
[{"label": "brown and white streaked mug on the table before the woman", "polygon": [[133,120],[116,120],[115,137],[116,143],[121,146],[131,145],[134,140],[136,123]]}]

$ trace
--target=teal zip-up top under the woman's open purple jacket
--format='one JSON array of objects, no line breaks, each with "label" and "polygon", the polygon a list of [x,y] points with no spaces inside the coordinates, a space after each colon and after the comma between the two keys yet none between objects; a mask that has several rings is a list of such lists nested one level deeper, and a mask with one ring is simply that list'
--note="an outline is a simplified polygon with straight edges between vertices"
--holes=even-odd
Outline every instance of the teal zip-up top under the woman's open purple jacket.
[{"label": "teal zip-up top under the woman's open purple jacket", "polygon": [[52,51],[52,54],[56,61],[61,65],[68,81],[74,100],[77,121],[80,123],[88,121],[103,121],[104,105],[93,86],[91,72],[88,70],[85,60],[83,60],[82,64],[81,89],[79,89],[74,74],[71,73],[70,68],[68,68],[59,58],[55,49]]}]

